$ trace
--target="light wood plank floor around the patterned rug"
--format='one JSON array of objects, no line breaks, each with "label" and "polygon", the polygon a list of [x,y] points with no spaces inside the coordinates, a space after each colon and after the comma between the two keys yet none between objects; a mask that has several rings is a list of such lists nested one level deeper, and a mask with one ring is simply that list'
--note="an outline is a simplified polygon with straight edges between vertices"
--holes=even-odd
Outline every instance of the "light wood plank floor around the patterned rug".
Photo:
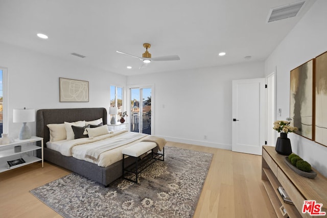
[{"label": "light wood plank floor around the patterned rug", "polygon": [[[276,217],[261,181],[261,156],[168,142],[213,153],[194,217]],[[0,217],[61,217],[29,190],[71,172],[44,162],[0,173]]]}]

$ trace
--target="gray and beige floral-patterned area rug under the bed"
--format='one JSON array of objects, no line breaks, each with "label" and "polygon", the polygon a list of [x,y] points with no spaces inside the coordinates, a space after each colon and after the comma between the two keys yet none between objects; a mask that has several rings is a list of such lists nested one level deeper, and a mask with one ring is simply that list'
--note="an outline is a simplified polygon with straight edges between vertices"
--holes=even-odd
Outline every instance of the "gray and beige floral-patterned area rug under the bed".
[{"label": "gray and beige floral-patterned area rug under the bed", "polygon": [[165,147],[139,183],[109,187],[72,173],[30,192],[63,217],[192,217],[213,154]]}]

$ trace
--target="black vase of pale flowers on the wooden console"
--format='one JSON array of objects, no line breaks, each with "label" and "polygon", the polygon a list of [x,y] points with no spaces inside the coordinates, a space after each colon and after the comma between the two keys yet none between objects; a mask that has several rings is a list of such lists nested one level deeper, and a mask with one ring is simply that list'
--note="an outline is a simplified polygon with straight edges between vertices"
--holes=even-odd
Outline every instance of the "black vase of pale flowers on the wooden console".
[{"label": "black vase of pale flowers on the wooden console", "polygon": [[274,122],[273,129],[281,133],[281,136],[277,138],[275,150],[278,154],[290,155],[292,154],[291,141],[287,137],[288,133],[297,131],[297,127],[290,126],[291,118],[287,120],[276,120]]}]

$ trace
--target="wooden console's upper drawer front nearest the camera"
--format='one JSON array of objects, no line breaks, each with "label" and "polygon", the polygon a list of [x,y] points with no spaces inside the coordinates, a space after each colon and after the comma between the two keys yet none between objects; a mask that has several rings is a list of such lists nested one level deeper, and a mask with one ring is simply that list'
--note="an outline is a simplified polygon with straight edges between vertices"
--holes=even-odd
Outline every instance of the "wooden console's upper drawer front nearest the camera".
[{"label": "wooden console's upper drawer front nearest the camera", "polygon": [[[291,200],[294,203],[294,206],[298,211],[302,211],[303,203],[305,199],[301,195],[301,193],[297,190],[297,188],[293,185],[293,183],[289,180],[289,178],[284,174],[281,168],[277,167],[277,179],[279,183],[284,187],[285,191],[290,196]],[[309,216],[308,213],[302,214],[303,217]]]}]

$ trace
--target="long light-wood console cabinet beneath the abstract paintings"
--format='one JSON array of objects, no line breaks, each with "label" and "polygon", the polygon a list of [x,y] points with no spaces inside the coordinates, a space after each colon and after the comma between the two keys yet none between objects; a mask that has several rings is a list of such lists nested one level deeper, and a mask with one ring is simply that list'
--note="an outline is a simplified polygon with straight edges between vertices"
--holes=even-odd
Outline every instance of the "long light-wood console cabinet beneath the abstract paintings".
[{"label": "long light-wood console cabinet beneath the abstract paintings", "polygon": [[[285,156],[277,154],[274,147],[263,146],[262,180],[277,217],[316,217],[302,213],[305,200],[315,200],[322,204],[321,211],[327,214],[327,178],[315,169],[313,170],[318,173],[316,178],[302,177],[292,171],[284,159]],[[279,186],[284,187],[294,205],[283,201],[277,190]],[[283,212],[284,208],[287,214]]]}]

